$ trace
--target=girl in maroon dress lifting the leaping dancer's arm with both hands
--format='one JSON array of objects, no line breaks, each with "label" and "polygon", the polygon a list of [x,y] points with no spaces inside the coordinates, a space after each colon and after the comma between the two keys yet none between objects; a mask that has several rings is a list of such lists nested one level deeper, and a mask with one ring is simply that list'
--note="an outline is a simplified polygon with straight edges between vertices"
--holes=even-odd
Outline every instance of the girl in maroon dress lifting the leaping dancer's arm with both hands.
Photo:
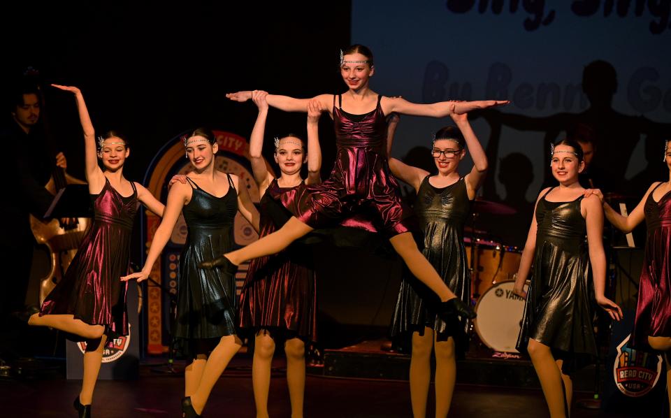
[{"label": "girl in maroon dress lifting the leaping dancer's arm with both hands", "polygon": [[[250,159],[254,180],[261,195],[260,235],[273,233],[277,227],[273,212],[284,212],[278,202],[282,194],[293,194],[321,181],[322,152],[319,149],[318,122],[322,114],[319,102],[308,104],[308,153],[301,138],[289,134],[275,138],[275,162],[280,176],[268,171],[261,157],[264,129],[268,116],[266,92],[254,92],[252,100],[259,107],[257,122],[250,137]],[[308,178],[301,178],[301,167],[308,163]],[[252,385],[257,417],[268,417],[270,366],[277,340],[284,340],[287,356],[287,385],[291,416],[303,416],[305,391],[305,343],[317,336],[317,303],[315,272],[305,264],[301,248],[289,247],[270,257],[253,259],[240,294],[240,333],[254,336]]]}]

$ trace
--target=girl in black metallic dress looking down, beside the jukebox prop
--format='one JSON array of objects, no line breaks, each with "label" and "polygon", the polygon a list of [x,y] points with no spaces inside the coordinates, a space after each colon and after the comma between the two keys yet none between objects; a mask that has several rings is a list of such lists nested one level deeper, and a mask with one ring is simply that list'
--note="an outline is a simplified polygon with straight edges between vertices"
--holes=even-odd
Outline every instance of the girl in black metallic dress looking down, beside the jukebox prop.
[{"label": "girl in black metallic dress looking down, beside the jukebox prop", "polygon": [[215,169],[215,135],[199,128],[185,136],[187,158],[194,170],[186,182],[175,182],[142,271],[122,280],[145,280],[168,243],[180,213],[189,228],[180,255],[175,338],[191,362],[185,369],[184,417],[199,417],[210,391],[242,342],[236,332],[235,271],[196,267],[233,247],[233,220],[238,210],[259,230],[259,212],[237,175]]}]

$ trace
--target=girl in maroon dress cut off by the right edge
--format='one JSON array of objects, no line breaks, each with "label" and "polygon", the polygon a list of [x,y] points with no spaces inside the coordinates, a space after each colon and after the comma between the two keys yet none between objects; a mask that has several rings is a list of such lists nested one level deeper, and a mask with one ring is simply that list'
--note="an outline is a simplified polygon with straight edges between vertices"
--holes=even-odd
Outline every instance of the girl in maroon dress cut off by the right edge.
[{"label": "girl in maroon dress cut off by the right edge", "polygon": [[[603,201],[600,190],[588,190],[603,201],[606,219],[617,229],[631,232],[645,220],[647,239],[645,258],[638,289],[638,303],[630,345],[643,351],[664,353],[667,382],[671,379],[671,143],[664,147],[664,161],[669,168],[668,182],[654,182],[643,199],[624,217]],[[671,384],[667,384],[671,401]]]}]

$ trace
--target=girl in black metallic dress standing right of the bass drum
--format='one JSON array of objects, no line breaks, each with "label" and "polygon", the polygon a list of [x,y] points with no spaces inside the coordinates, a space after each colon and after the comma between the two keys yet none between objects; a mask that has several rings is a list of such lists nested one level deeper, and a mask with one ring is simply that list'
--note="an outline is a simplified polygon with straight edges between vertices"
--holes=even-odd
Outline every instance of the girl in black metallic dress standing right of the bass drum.
[{"label": "girl in black metallic dress standing right of the bass drum", "polygon": [[[517,349],[531,356],[550,416],[568,417],[570,373],[598,354],[592,302],[615,320],[622,310],[604,295],[603,209],[597,196],[583,197],[582,148],[565,139],[551,149],[559,185],[540,192],[522,252],[514,291],[526,304]],[[524,283],[532,264],[527,296]]]}]

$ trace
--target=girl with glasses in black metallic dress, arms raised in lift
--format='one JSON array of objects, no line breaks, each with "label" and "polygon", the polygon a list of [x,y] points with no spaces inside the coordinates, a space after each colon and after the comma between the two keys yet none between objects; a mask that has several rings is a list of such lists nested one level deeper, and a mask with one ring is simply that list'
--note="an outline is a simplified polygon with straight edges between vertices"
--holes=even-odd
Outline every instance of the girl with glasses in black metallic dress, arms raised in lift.
[{"label": "girl with glasses in black metallic dress, arms raised in lift", "polygon": [[[450,113],[456,127],[445,127],[435,134],[431,155],[438,173],[430,175],[421,168],[408,166],[395,158],[389,168],[397,178],[414,187],[417,199],[414,212],[424,232],[424,257],[431,263],[450,290],[470,303],[470,277],[463,226],[470,215],[470,206],[487,171],[487,157],[468,123],[466,113]],[[387,147],[398,122],[389,121]],[[466,156],[466,147],[473,159],[467,175],[457,171]],[[426,285],[412,275],[405,275],[391,324],[396,336],[412,333],[410,358],[410,401],[414,417],[426,415],[426,399],[431,383],[431,352],[435,352],[435,416],[447,417],[456,381],[456,352],[466,349],[467,319],[448,322],[436,315],[439,299]]]}]

